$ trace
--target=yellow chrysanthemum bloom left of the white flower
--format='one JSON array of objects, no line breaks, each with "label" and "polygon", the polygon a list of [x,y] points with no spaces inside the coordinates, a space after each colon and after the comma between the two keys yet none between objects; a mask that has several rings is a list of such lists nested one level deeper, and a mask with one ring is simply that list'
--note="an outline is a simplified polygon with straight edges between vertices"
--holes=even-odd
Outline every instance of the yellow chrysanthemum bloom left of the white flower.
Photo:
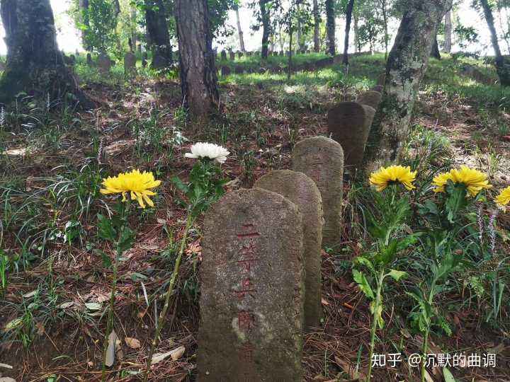
[{"label": "yellow chrysanthemum bloom left of the white flower", "polygon": [[130,173],[120,173],[115,177],[103,179],[103,187],[99,192],[101,194],[122,194],[123,202],[126,201],[126,194],[130,192],[131,200],[137,200],[140,207],[145,208],[145,202],[150,207],[154,207],[154,203],[149,196],[156,195],[151,188],[161,184],[161,180],[155,180],[152,173],[139,170],[132,170]]}]

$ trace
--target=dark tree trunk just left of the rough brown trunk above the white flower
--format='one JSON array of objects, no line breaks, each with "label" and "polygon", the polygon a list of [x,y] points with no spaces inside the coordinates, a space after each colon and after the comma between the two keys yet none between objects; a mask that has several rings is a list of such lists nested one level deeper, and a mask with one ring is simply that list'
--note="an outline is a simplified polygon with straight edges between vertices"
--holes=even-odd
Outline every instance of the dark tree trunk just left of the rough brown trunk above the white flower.
[{"label": "dark tree trunk just left of the rough brown trunk above the white flower", "polygon": [[170,34],[162,0],[145,0],[147,35],[152,49],[152,68],[168,68],[172,63]]}]

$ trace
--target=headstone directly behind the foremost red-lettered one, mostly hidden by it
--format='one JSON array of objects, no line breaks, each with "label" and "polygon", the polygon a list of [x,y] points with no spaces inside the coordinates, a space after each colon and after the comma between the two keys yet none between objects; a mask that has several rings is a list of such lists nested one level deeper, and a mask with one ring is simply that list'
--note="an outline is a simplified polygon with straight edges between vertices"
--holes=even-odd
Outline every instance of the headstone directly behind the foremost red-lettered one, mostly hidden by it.
[{"label": "headstone directly behind the foremost red-lettered one, mostly hidden by it", "polygon": [[274,170],[256,181],[254,187],[277,192],[293,202],[302,214],[303,261],[305,263],[305,330],[320,325],[322,199],[315,182],[304,173]]}]

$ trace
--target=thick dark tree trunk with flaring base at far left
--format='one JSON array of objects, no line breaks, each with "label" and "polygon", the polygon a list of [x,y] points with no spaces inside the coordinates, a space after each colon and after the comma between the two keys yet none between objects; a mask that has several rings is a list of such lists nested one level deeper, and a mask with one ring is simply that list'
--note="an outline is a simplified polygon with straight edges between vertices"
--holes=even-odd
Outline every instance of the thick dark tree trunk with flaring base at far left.
[{"label": "thick dark tree trunk with flaring base at far left", "polygon": [[46,99],[72,94],[81,108],[94,108],[78,87],[57,46],[50,0],[2,0],[1,18],[7,45],[6,70],[0,80],[0,102],[20,91]]}]

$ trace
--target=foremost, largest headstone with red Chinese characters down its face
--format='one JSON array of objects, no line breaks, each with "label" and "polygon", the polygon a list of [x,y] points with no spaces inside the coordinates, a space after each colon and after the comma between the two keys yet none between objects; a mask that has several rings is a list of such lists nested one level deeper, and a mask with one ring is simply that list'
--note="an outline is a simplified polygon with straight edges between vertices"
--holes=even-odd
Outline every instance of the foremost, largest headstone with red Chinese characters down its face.
[{"label": "foremost, largest headstone with red Chinese characters down its face", "polygon": [[205,216],[198,381],[302,381],[302,216],[276,192],[222,197]]}]

